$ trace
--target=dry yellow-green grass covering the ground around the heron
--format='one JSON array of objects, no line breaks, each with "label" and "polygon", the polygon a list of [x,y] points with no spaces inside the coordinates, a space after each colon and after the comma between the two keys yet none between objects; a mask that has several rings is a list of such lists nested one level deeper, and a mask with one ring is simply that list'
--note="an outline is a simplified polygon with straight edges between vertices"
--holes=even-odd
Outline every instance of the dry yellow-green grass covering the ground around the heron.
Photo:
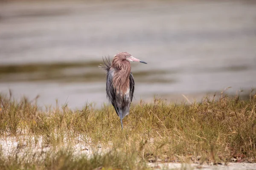
[{"label": "dry yellow-green grass covering the ground around the heron", "polygon": [[[121,130],[111,106],[82,111],[38,108],[36,99],[20,102],[0,95],[0,138],[18,142],[0,151],[0,169],[147,169],[147,162],[256,160],[256,95],[220,99],[206,97],[192,104],[132,105]],[[78,155],[73,145],[102,149]],[[40,147],[41,151],[32,149]],[[100,146],[100,147],[99,147]],[[50,148],[45,151],[44,148]],[[25,149],[26,148],[26,149]],[[30,148],[30,149],[29,149]]]}]

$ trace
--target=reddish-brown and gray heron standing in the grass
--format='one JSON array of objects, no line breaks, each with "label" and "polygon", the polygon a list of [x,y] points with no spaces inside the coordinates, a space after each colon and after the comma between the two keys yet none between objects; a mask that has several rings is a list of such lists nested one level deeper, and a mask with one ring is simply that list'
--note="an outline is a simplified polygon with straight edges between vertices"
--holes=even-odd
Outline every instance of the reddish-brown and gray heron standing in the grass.
[{"label": "reddish-brown and gray heron standing in the grass", "polygon": [[140,59],[136,59],[127,52],[120,52],[113,58],[103,59],[105,65],[100,66],[107,71],[106,93],[107,98],[116,110],[121,120],[129,114],[130,105],[134,94],[134,77],[131,72],[130,61],[137,61],[147,64]]}]

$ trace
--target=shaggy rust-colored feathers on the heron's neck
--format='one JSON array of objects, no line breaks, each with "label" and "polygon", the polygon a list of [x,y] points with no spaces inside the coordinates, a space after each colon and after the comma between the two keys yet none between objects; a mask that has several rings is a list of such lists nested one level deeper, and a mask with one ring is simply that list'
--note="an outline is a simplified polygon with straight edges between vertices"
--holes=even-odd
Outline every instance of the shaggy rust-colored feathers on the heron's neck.
[{"label": "shaggy rust-colored feathers on the heron's neck", "polygon": [[129,76],[131,74],[130,62],[126,59],[114,57],[112,62],[112,68],[114,69],[113,75],[113,87],[118,94],[125,96],[129,90],[130,81]]}]

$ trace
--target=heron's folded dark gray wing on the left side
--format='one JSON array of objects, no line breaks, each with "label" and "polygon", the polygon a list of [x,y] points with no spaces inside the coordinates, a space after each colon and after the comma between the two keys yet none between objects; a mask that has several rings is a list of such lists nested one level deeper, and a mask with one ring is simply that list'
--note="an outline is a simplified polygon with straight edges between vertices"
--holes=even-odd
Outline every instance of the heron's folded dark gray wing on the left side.
[{"label": "heron's folded dark gray wing on the left side", "polygon": [[113,70],[110,69],[107,73],[106,93],[107,93],[109,102],[111,102],[111,104],[115,108],[116,114],[119,116],[119,110],[116,107],[116,96],[115,96],[114,88],[112,85],[112,79],[113,79]]}]

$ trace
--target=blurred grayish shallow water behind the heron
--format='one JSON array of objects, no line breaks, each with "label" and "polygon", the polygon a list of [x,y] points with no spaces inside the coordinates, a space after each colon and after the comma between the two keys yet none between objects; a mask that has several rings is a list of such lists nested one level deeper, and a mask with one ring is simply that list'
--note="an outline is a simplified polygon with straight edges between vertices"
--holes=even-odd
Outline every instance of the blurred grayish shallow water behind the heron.
[{"label": "blurred grayish shallow water behind the heron", "polygon": [[256,3],[1,3],[0,91],[40,105],[102,105],[102,56],[128,51],[135,100],[175,101],[256,85]]}]

